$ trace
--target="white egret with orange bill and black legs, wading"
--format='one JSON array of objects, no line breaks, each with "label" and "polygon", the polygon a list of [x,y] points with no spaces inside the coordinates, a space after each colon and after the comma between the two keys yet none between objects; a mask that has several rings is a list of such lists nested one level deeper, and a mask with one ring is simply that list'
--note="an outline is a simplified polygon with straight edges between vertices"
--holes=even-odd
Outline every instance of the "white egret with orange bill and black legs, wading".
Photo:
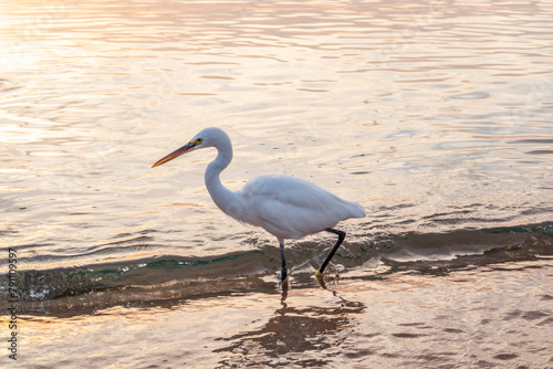
[{"label": "white egret with orange bill and black legs, wading", "polygon": [[338,222],[365,217],[361,204],[347,201],[303,179],[268,175],[250,180],[241,191],[222,186],[219,175],[232,160],[232,144],[220,128],[205,128],[188,144],[154,164],[160,166],[182,154],[215,147],[217,158],[206,169],[206,187],[213,202],[226,214],[254,226],[260,226],[279,240],[282,259],[281,280],[286,278],[284,240],[301,239],[307,234],[327,231],[338,240],[315,275],[322,277],[324,268],[344,241],[345,232],[335,230]]}]

